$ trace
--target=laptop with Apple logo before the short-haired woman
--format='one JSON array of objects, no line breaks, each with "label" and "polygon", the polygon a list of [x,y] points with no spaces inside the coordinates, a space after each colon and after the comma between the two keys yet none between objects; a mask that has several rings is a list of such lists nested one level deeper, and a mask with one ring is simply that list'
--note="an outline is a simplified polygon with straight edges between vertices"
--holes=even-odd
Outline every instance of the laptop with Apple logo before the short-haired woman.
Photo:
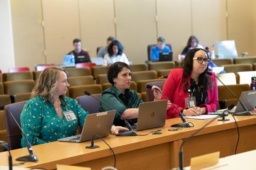
[{"label": "laptop with Apple logo before the short-haired woman", "polygon": [[167,102],[167,100],[159,100],[140,103],[137,125],[132,125],[132,129],[139,131],[164,126]]}]

